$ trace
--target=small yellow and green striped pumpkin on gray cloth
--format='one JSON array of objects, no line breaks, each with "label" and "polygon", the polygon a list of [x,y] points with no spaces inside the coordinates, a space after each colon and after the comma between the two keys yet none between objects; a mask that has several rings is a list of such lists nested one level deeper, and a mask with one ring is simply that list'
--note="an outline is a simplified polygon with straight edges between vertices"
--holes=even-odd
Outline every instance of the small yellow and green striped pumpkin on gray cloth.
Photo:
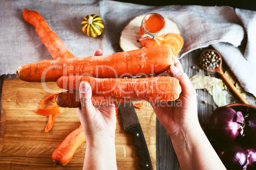
[{"label": "small yellow and green striped pumpkin on gray cloth", "polygon": [[95,14],[87,15],[83,18],[82,30],[87,36],[100,36],[104,30],[103,19]]}]

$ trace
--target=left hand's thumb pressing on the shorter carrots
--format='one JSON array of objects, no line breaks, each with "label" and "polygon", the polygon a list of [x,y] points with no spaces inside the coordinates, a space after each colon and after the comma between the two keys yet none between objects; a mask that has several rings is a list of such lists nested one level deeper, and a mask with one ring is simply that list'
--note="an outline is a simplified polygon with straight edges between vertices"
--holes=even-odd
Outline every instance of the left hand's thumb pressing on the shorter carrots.
[{"label": "left hand's thumb pressing on the shorter carrots", "polygon": [[[96,109],[92,105],[92,89],[87,81],[82,81],[79,88],[79,96],[81,101],[81,111],[87,117],[94,117]],[[83,116],[83,115],[82,115]]]}]

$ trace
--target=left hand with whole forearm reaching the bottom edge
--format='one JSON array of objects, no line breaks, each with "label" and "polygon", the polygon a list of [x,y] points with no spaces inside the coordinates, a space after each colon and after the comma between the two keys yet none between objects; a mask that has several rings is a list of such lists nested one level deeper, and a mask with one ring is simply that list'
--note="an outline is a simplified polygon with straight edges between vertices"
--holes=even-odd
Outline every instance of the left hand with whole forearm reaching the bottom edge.
[{"label": "left hand with whole forearm reaching the bottom edge", "polygon": [[[94,52],[94,55],[102,54],[100,49]],[[92,89],[87,81],[80,83],[79,96],[81,108],[76,108],[76,112],[87,143],[83,169],[117,169],[115,105],[93,106]]]}]

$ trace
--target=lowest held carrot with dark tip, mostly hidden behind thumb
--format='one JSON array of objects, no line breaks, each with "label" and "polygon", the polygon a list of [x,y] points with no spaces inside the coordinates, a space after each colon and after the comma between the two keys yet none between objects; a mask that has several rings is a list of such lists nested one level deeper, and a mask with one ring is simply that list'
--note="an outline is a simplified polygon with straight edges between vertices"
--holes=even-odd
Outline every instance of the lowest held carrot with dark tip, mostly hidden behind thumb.
[{"label": "lowest held carrot with dark tip, mostly hidden behind thumb", "polygon": [[[107,106],[109,104],[127,103],[131,101],[138,101],[138,99],[130,99],[128,97],[111,97],[103,96],[101,94],[92,94],[92,105]],[[60,92],[55,97],[55,102],[62,108],[80,108],[81,102],[78,91]]]}]

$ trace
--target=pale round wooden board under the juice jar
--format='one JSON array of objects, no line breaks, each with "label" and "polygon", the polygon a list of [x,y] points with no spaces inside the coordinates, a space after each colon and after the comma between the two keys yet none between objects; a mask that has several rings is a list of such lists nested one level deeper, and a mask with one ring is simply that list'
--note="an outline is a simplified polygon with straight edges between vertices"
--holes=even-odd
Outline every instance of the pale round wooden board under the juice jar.
[{"label": "pale round wooden board under the juice jar", "polygon": [[[133,18],[129,24],[124,27],[124,30],[121,32],[120,36],[120,47],[122,50],[136,50],[142,48],[141,44],[138,42],[139,28],[141,26],[141,21],[145,15],[139,15]],[[166,20],[166,34],[176,33],[180,34],[180,29],[178,25],[172,20],[164,17]]]}]

